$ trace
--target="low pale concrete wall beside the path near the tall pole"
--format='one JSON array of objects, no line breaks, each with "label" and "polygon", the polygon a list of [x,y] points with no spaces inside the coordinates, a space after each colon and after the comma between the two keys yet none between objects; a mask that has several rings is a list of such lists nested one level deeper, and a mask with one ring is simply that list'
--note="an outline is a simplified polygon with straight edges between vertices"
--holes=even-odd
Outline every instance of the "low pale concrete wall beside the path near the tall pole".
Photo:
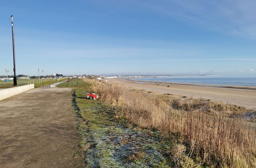
[{"label": "low pale concrete wall beside the path near the tall pole", "polygon": [[34,89],[34,84],[0,90],[0,100]]}]

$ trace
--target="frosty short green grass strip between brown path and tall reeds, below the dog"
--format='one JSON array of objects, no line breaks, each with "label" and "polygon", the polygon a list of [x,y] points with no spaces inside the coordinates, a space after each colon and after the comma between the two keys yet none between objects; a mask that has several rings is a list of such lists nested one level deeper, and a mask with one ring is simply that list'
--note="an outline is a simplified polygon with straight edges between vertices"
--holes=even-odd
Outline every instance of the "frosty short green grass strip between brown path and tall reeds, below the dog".
[{"label": "frosty short green grass strip between brown path and tall reeds, below the dog", "polygon": [[83,118],[82,148],[89,167],[169,167],[159,137],[127,128],[114,113],[91,100],[77,98]]}]

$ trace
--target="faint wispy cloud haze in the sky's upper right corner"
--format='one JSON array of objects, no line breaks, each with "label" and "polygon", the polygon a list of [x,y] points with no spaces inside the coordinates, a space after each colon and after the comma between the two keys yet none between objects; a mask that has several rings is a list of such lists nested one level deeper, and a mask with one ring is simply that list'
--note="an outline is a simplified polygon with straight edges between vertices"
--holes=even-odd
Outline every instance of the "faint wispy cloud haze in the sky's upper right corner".
[{"label": "faint wispy cloud haze in the sky's upper right corner", "polygon": [[208,29],[256,39],[256,1],[253,0],[163,0],[157,4],[155,1],[137,4],[164,15],[203,24]]}]

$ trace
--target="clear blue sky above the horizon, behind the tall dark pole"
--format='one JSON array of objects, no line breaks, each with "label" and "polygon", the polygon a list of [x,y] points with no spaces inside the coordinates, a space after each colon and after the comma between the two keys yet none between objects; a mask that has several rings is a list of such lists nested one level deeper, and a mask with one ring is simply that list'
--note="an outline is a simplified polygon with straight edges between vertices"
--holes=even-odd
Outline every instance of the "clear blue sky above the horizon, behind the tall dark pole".
[{"label": "clear blue sky above the horizon, behind the tall dark pole", "polygon": [[256,1],[1,1],[0,74],[256,75]]}]

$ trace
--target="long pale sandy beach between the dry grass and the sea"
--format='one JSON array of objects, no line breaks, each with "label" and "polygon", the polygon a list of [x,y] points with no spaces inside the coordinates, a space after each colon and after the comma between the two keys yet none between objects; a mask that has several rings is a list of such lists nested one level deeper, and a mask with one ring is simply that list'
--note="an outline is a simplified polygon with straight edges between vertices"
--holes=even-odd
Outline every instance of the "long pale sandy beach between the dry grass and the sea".
[{"label": "long pale sandy beach between the dry grass and the sea", "polygon": [[[188,83],[165,83],[110,79],[108,82],[114,85],[122,85],[133,89],[144,89],[161,94],[175,94],[177,96],[188,96],[193,98],[206,98],[228,104],[236,104],[247,108],[256,109],[256,87],[223,86],[216,87],[196,86]],[[167,87],[169,86],[169,87]]]}]

